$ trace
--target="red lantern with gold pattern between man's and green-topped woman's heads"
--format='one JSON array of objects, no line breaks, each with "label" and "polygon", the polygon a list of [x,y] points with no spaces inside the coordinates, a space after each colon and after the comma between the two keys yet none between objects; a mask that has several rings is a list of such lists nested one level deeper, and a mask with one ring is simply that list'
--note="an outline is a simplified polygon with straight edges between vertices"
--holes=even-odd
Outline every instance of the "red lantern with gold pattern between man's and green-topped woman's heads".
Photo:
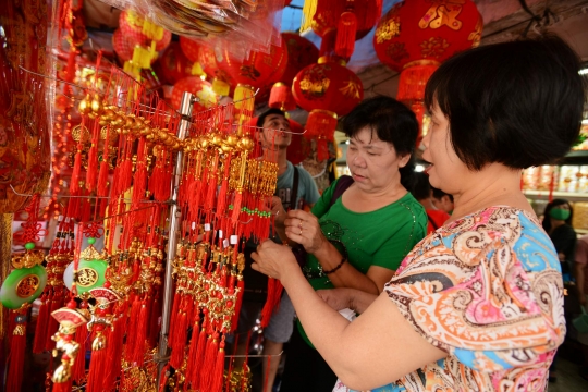
[{"label": "red lantern with gold pattern between man's and green-topped woman's heads", "polygon": [[319,61],[296,75],[292,94],[310,112],[304,136],[318,139],[319,160],[329,158],[327,140],[333,140],[338,115],[347,114],[364,99],[362,81],[345,66]]}]

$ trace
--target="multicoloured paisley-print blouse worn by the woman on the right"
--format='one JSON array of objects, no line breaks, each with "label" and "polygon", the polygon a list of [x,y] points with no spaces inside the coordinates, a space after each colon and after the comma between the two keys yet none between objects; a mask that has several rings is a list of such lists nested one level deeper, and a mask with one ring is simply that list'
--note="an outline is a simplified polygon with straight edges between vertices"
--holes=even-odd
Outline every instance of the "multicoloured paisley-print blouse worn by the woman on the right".
[{"label": "multicoloured paisley-print blouse worn by the woman on the right", "polygon": [[563,282],[558,254],[528,212],[491,207],[440,228],[384,290],[448,356],[375,392],[547,390],[565,336]]}]

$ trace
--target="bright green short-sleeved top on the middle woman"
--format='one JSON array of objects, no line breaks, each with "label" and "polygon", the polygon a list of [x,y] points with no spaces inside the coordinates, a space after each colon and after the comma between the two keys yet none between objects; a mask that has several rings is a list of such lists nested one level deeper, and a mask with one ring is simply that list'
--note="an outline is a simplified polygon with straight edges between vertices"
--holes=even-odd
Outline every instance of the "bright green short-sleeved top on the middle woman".
[{"label": "bright green short-sleeved top on the middle woman", "polygon": [[[347,262],[364,274],[371,266],[396,270],[427,233],[425,208],[411,193],[370,212],[348,210],[341,197],[329,208],[335,186],[336,181],[313,208],[324,236],[343,243],[347,249]],[[343,254],[336,242],[333,245]],[[313,289],[334,289],[327,275],[320,277],[320,265],[314,255],[308,255],[304,272]],[[299,322],[298,329],[309,343]]]}]

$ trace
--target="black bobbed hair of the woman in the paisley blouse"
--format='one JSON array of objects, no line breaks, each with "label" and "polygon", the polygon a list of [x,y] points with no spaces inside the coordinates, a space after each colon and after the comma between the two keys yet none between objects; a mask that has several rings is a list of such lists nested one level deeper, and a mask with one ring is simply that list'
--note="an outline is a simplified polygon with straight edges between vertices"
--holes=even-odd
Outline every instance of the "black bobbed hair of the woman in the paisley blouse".
[{"label": "black bobbed hair of the woman in the paisley blouse", "polygon": [[553,163],[577,140],[585,84],[577,54],[544,35],[466,50],[431,75],[425,105],[437,102],[451,143],[470,169]]}]

